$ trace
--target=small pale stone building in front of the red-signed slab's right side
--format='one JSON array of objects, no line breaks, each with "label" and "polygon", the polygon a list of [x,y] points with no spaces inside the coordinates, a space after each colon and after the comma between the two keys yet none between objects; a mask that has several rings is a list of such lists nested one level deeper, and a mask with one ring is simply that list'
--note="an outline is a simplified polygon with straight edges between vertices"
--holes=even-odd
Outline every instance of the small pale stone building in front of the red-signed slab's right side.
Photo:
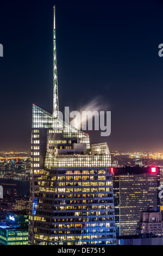
[{"label": "small pale stone building in front of the red-signed slab's right side", "polygon": [[162,236],[162,214],[153,208],[140,212],[140,221],[137,223],[137,234],[155,234]]}]

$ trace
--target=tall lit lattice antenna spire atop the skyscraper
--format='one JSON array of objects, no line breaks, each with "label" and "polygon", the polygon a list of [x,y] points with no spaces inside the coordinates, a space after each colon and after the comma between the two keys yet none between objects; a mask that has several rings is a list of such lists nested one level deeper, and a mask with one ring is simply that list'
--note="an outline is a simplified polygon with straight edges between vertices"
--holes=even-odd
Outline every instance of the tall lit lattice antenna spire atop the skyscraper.
[{"label": "tall lit lattice antenna spire atop the skyscraper", "polygon": [[56,39],[55,39],[55,5],[54,9],[54,24],[53,24],[53,116],[59,117],[58,105],[58,78],[57,78],[57,54],[56,54]]}]

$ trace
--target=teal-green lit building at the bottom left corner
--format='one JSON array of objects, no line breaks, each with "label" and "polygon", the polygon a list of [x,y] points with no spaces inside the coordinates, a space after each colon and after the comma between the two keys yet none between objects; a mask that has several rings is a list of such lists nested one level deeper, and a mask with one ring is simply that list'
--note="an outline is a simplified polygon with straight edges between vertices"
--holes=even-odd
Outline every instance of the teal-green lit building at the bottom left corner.
[{"label": "teal-green lit building at the bottom left corner", "polygon": [[28,245],[28,215],[8,212],[0,224],[0,245]]}]

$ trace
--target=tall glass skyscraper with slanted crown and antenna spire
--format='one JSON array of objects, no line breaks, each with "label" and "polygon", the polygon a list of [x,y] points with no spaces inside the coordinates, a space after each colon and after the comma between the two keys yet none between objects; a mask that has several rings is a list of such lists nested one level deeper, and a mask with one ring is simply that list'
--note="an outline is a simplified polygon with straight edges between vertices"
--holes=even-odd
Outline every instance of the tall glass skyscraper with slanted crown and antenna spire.
[{"label": "tall glass skyscraper with slanted crown and antenna spire", "polygon": [[53,114],[33,105],[29,245],[115,245],[110,151],[59,118],[55,6]]}]

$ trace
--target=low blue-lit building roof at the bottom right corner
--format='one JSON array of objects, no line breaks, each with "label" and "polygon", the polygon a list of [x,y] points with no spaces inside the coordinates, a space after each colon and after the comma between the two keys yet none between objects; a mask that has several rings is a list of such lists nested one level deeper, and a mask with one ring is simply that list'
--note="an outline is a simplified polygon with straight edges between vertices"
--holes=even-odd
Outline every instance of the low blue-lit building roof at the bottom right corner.
[{"label": "low blue-lit building roof at the bottom right corner", "polygon": [[119,236],[117,245],[163,245],[163,237],[153,234]]}]

